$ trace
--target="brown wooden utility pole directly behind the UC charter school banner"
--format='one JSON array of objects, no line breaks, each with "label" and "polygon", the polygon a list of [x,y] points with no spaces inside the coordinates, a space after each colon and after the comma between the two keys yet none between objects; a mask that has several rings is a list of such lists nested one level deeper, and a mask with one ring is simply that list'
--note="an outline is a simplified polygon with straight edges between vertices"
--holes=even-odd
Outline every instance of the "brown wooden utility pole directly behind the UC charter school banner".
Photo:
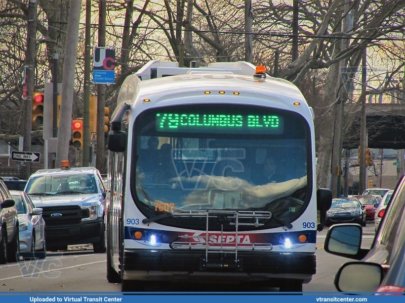
[{"label": "brown wooden utility pole directly behind the UC charter school banner", "polygon": [[[98,15],[98,45],[105,46],[105,15],[106,1],[99,0]],[[105,108],[105,84],[97,85],[97,141],[96,141],[96,168],[105,174],[105,143],[104,143],[104,108]]]}]

